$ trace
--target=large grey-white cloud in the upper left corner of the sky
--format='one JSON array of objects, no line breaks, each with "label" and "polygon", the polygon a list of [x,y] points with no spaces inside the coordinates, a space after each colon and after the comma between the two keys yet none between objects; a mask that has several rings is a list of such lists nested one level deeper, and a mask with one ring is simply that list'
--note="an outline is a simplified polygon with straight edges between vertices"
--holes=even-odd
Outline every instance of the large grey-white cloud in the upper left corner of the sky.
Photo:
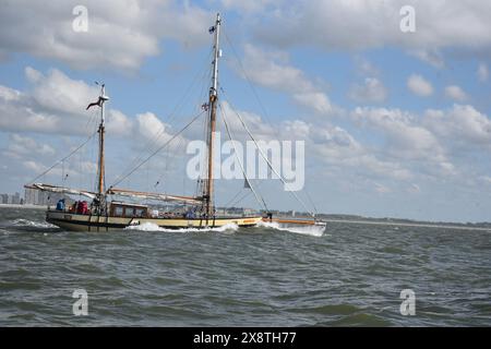
[{"label": "large grey-white cloud in the upper left corner of the sky", "polygon": [[88,32],[72,28],[79,1],[8,1],[0,12],[0,57],[13,52],[57,59],[75,69],[137,69],[159,52],[161,38],[185,46],[208,39],[213,15],[173,1],[84,1]]}]

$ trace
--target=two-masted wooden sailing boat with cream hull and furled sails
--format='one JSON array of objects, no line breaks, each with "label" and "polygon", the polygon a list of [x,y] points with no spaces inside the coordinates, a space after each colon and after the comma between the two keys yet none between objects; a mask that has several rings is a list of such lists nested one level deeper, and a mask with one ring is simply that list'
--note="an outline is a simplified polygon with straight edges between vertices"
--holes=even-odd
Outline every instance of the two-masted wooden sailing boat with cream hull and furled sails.
[{"label": "two-masted wooden sailing boat with cream hull and furled sails", "polygon": [[[46,220],[62,229],[77,231],[109,231],[122,229],[130,226],[153,224],[160,228],[216,228],[227,225],[239,227],[253,227],[266,219],[272,221],[272,215],[266,218],[259,214],[249,216],[218,216],[214,203],[214,136],[216,129],[216,113],[218,104],[218,60],[220,57],[219,35],[220,16],[217,14],[215,25],[209,29],[214,34],[214,60],[212,86],[209,88],[206,112],[208,117],[206,145],[207,145],[207,177],[201,179],[201,194],[196,196],[170,195],[164,193],[148,193],[133,190],[105,188],[105,104],[109,97],[105,93],[105,85],[100,87],[100,95],[97,106],[100,109],[100,123],[98,127],[98,164],[97,164],[97,191],[75,190],[64,186],[57,186],[43,183],[32,183],[24,185],[26,189],[34,189],[45,192],[81,195],[88,197],[92,202],[77,202],[73,207],[67,208],[59,203],[56,208],[46,212]],[[188,124],[189,125],[189,124]],[[254,193],[255,194],[255,193]],[[192,212],[172,215],[155,215],[155,210],[148,205],[134,204],[132,202],[109,201],[109,196],[125,196],[131,200],[152,200],[166,203],[184,204],[194,207]],[[300,221],[298,221],[300,222]],[[306,222],[304,222],[306,224]],[[308,221],[307,224],[315,224]]]}]

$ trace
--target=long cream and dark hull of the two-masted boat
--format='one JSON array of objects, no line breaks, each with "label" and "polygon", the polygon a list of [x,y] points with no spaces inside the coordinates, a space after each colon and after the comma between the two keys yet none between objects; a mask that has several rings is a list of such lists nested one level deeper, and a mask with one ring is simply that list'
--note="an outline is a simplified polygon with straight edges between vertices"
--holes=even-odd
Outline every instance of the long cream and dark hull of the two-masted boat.
[{"label": "long cream and dark hull of the two-masted boat", "polygon": [[215,219],[200,218],[125,218],[111,216],[89,216],[71,214],[60,210],[48,210],[46,221],[65,230],[74,231],[111,231],[121,230],[130,226],[154,224],[159,228],[182,229],[182,228],[218,228],[226,225],[237,225],[239,227],[253,227],[262,217],[216,217]]}]

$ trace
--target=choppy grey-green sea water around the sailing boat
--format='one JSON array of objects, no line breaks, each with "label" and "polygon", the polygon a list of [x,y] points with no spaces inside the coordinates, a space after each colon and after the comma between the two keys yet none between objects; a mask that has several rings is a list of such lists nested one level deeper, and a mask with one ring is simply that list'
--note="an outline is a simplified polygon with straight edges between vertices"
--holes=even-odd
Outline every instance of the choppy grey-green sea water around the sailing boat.
[{"label": "choppy grey-green sea water around the sailing boat", "polygon": [[[331,221],[332,239],[282,224],[64,233],[44,218],[0,209],[0,326],[491,325],[487,231]],[[81,288],[89,316],[72,313]],[[416,316],[400,315],[406,288]]]}]

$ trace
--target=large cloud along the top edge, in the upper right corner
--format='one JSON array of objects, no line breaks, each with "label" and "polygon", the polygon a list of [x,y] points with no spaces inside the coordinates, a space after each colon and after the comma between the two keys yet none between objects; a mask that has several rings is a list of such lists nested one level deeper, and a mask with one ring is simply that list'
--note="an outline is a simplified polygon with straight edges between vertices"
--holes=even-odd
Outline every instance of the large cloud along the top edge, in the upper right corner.
[{"label": "large cloud along the top edge, in the upper right corner", "polygon": [[[416,32],[399,29],[399,9],[416,10]],[[491,55],[491,4],[488,1],[312,0],[278,5],[264,14],[255,36],[277,47],[314,46],[326,50],[399,47],[442,65],[440,52]]]}]

